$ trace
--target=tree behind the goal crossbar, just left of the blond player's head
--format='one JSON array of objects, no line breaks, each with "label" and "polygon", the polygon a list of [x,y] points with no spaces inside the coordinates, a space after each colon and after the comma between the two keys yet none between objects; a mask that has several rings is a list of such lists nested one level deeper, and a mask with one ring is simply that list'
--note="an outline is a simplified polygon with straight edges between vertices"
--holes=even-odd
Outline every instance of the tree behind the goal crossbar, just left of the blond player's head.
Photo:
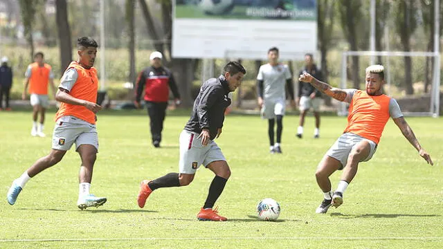
[{"label": "tree behind the goal crossbar, just left of the blond player's head", "polygon": [[[358,50],[359,37],[356,28],[363,16],[361,1],[339,0],[337,8],[340,14],[341,27],[347,42],[350,44],[351,50]],[[352,82],[354,82],[354,88],[360,88],[359,57],[357,56],[352,57]]]}]

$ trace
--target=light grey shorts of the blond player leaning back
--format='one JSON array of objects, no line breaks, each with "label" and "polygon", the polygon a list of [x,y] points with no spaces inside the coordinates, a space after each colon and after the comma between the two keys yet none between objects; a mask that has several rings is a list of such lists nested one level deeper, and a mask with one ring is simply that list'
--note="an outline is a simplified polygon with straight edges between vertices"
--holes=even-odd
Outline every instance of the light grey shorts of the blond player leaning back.
[{"label": "light grey shorts of the blond player leaning back", "polygon": [[349,156],[351,150],[354,148],[354,146],[361,142],[361,141],[368,141],[370,145],[370,151],[367,158],[364,160],[361,160],[361,162],[365,162],[370,160],[372,156],[374,156],[375,151],[377,150],[377,144],[369,139],[363,138],[362,136],[356,135],[354,133],[343,133],[335,142],[334,145],[332,145],[331,148],[326,152],[327,156],[330,156],[332,158],[336,158],[341,162],[341,168],[346,166],[347,163],[347,157]]}]

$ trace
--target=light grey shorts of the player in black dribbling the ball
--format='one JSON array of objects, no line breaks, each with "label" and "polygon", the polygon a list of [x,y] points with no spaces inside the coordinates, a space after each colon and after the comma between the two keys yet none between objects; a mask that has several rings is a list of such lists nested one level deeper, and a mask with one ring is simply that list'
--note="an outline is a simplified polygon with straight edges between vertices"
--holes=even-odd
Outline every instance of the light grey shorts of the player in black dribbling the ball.
[{"label": "light grey shorts of the player in black dribbling the ball", "polygon": [[183,130],[180,133],[180,161],[179,173],[195,174],[200,165],[208,165],[217,160],[224,160],[219,146],[211,140],[208,145],[201,145],[199,135]]}]

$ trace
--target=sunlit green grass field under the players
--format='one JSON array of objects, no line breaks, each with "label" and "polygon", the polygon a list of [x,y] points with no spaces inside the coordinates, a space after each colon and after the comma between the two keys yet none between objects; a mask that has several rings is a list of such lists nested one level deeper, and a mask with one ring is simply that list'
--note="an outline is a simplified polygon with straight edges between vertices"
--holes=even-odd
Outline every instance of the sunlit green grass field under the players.
[{"label": "sunlit green grass field under the players", "polygon": [[[266,122],[258,116],[226,117],[217,143],[232,176],[216,205],[229,221],[197,221],[213,174],[201,168],[188,187],[156,190],[138,208],[138,183],[178,170],[178,138],[188,111],[170,113],[163,147],[150,144],[145,111],[104,111],[99,115],[100,153],[91,192],[107,196],[100,208],[80,211],[80,159],[69,151],[61,163],[28,182],[14,206],[6,192],[51,147],[53,111],[46,138],[30,137],[28,111],[0,112],[0,248],[442,248],[442,119],[407,118],[431,154],[431,167],[392,121],[377,154],[361,164],[345,192],[345,203],[315,214],[323,199],[314,172],[340,135],[346,119],[327,116],[314,140],[313,118],[305,138],[295,135],[298,117],[284,118],[283,154],[268,152]],[[183,114],[183,115],[181,115]],[[333,186],[340,177],[332,175]],[[255,219],[260,199],[282,208],[278,222]]]}]

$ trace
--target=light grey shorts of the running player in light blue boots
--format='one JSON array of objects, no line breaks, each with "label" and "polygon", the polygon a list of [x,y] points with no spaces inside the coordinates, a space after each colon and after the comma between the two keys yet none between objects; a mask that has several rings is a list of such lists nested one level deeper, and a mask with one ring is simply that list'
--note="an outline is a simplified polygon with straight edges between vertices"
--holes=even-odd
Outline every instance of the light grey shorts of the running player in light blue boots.
[{"label": "light grey shorts of the running player in light blue boots", "polygon": [[96,125],[73,116],[59,118],[53,131],[53,149],[67,151],[74,142],[75,150],[80,145],[93,145],[98,151]]}]

